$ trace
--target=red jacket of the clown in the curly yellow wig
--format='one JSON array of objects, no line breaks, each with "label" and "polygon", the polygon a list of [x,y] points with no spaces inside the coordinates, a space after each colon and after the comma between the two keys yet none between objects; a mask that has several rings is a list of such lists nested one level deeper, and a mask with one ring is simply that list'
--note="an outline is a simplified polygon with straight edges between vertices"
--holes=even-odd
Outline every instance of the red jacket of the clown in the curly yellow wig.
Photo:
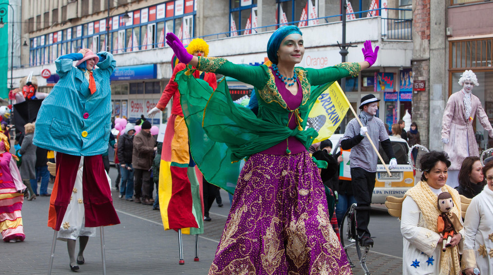
[{"label": "red jacket of the clown in the curly yellow wig", "polygon": [[[185,64],[183,63],[178,63],[175,66],[175,69],[173,70],[173,76],[169,80],[168,84],[163,90],[163,94],[161,96],[161,99],[159,99],[158,104],[156,107],[160,109],[161,111],[166,108],[166,105],[168,104],[169,100],[172,97],[175,97],[173,100],[173,106],[171,108],[171,113],[173,115],[178,115],[183,117],[183,111],[181,109],[180,105],[180,92],[178,91],[178,83],[175,82],[175,77],[177,72],[185,69]],[[216,74],[214,72],[201,72],[202,74],[205,74],[203,77],[204,81],[209,83],[209,86],[211,86],[214,90],[217,88],[217,80],[216,80]],[[199,78],[199,71],[195,70],[194,71],[194,77]]]}]

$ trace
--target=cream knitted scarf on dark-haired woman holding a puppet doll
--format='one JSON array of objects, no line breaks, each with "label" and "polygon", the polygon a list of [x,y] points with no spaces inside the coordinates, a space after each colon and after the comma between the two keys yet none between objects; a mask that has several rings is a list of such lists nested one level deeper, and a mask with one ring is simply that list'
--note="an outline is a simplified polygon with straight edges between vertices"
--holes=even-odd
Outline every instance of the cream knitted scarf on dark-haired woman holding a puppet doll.
[{"label": "cream knitted scarf on dark-haired woman holding a puppet doll", "polygon": [[[449,192],[450,195],[452,195],[453,208],[450,211],[456,213],[456,215],[460,217],[461,210],[459,207],[461,205],[461,198],[459,193],[447,185],[442,187],[442,191]],[[437,206],[438,196],[430,190],[428,184],[425,181],[420,181],[416,186],[409,189],[404,197],[405,196],[411,196],[414,202],[419,206],[426,228],[438,233],[437,221],[438,216],[441,214]],[[445,250],[445,252],[442,251],[440,255],[440,275],[450,274],[461,274],[459,250],[457,246],[451,247],[451,249],[447,248],[447,250]]]}]

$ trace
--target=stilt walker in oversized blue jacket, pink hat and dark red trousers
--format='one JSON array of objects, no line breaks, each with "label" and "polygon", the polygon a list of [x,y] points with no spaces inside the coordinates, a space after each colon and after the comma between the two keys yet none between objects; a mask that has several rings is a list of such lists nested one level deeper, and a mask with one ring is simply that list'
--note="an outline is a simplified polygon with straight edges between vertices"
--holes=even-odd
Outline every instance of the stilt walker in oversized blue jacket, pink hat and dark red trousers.
[{"label": "stilt walker in oversized blue jacket, pink hat and dark red trousers", "polygon": [[[75,67],[73,61],[77,61]],[[59,57],[55,66],[60,81],[44,99],[34,132],[36,146],[57,152],[48,226],[60,230],[71,194],[77,192],[74,183],[81,156],[84,156],[85,226],[120,224],[101,156],[108,150],[111,130],[109,78],[116,61],[109,52],[94,54],[90,49],[81,49],[79,53]]]}]

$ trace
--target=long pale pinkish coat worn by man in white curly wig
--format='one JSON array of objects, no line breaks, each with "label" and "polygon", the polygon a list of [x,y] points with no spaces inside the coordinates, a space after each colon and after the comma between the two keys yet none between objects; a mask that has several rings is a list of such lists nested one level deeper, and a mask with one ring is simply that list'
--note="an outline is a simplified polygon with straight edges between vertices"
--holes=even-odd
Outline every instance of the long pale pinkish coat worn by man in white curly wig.
[{"label": "long pale pinkish coat worn by man in white curly wig", "polygon": [[[452,162],[449,168],[451,170],[460,170],[466,157],[479,156],[472,120],[466,118],[463,98],[462,90],[453,93],[448,99],[442,118],[442,138],[449,140],[448,144],[443,146],[443,150],[447,152]],[[474,119],[475,116],[478,116],[484,130],[493,138],[493,129],[479,98],[471,95],[471,117]]]}]

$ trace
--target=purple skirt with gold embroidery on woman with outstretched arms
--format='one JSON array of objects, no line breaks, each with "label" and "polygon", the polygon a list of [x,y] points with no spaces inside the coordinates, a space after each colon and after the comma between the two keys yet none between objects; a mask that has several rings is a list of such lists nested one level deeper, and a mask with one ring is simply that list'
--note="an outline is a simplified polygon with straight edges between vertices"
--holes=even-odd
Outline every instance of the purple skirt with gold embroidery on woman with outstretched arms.
[{"label": "purple skirt with gold embroidery on woman with outstretched arms", "polygon": [[252,155],[209,274],[352,274],[308,152]]}]

